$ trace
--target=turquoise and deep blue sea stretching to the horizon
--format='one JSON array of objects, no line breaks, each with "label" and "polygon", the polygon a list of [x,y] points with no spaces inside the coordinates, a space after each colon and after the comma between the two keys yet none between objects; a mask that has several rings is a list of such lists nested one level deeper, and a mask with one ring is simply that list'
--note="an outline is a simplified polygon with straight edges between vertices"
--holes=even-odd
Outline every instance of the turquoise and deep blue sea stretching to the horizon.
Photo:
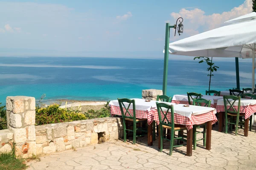
[{"label": "turquoise and deep blue sea stretching to the horizon", "polygon": [[[240,59],[239,59],[240,60]],[[239,63],[241,88],[251,87],[251,60]],[[236,87],[235,59],[213,61],[212,90]],[[206,63],[169,60],[167,95],[205,93],[209,86]],[[163,59],[82,57],[0,57],[0,103],[6,96],[109,101],[141,98],[143,89],[162,89]]]}]

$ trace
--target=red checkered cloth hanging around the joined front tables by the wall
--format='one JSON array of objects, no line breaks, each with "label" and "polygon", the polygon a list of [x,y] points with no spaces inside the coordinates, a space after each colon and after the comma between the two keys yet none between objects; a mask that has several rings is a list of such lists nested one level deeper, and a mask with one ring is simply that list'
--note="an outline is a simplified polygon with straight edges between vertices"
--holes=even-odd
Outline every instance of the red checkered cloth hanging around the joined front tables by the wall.
[{"label": "red checkered cloth hanging around the joined front tables by the wall", "polygon": [[[132,113],[132,111],[132,109],[129,109],[130,113]],[[120,107],[111,105],[111,114],[122,115]],[[171,114],[168,114],[167,117],[168,116],[171,116]],[[136,118],[147,118],[148,124],[151,124],[153,121],[159,122],[156,109],[151,109],[150,111],[136,110]],[[170,117],[168,119],[170,119]],[[194,124],[204,124],[207,121],[212,121],[212,124],[218,121],[215,115],[215,111],[201,115],[192,115],[191,119],[175,113],[175,124],[183,124],[187,127],[188,130],[192,129]]]}]

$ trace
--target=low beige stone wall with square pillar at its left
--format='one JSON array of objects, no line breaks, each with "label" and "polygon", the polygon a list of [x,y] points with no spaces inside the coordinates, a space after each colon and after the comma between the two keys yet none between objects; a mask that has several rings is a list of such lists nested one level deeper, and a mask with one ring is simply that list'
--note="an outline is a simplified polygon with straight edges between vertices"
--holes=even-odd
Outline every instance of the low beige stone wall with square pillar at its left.
[{"label": "low beige stone wall with square pillar at its left", "polygon": [[0,131],[0,152],[11,150],[23,158],[85,147],[122,137],[120,118],[97,118],[35,126],[35,98],[6,98],[7,127]]}]

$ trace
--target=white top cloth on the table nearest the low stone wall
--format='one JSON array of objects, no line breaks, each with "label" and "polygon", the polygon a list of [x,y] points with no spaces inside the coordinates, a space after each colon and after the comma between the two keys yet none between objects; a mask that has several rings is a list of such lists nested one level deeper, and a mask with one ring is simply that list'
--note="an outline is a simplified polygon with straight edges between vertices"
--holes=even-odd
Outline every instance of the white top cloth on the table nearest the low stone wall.
[{"label": "white top cloth on the table nearest the low stone wall", "polygon": [[[136,110],[148,110],[150,111],[150,109],[156,109],[157,108],[157,104],[156,102],[157,101],[149,101],[149,102],[146,102],[145,99],[141,99],[141,98],[131,98],[131,100],[134,99],[135,100],[135,108]],[[172,104],[172,105],[175,105],[175,103],[169,103],[169,102],[163,102],[163,101],[158,101],[158,103],[166,103],[166,104]],[[119,107],[119,103],[118,103],[118,100],[113,100],[113,101],[110,101],[109,106],[118,106]],[[124,103],[125,107],[128,107],[128,103]],[[129,109],[132,109],[133,108],[133,105],[131,104]]]}]

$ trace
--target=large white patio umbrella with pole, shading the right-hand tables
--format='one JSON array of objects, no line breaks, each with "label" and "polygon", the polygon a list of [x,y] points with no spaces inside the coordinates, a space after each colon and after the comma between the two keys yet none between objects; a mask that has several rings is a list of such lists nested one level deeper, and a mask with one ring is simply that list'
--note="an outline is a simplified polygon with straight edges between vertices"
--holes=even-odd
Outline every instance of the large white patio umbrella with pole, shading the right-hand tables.
[{"label": "large white patio umbrella with pole, shading the right-hand tables", "polygon": [[[255,12],[254,12],[255,13]],[[247,18],[248,17],[244,17]],[[241,18],[240,18],[241,19]],[[238,19],[239,20],[239,19]],[[252,89],[256,49],[256,20],[247,20],[169,43],[169,54],[195,57],[252,58]]]}]

